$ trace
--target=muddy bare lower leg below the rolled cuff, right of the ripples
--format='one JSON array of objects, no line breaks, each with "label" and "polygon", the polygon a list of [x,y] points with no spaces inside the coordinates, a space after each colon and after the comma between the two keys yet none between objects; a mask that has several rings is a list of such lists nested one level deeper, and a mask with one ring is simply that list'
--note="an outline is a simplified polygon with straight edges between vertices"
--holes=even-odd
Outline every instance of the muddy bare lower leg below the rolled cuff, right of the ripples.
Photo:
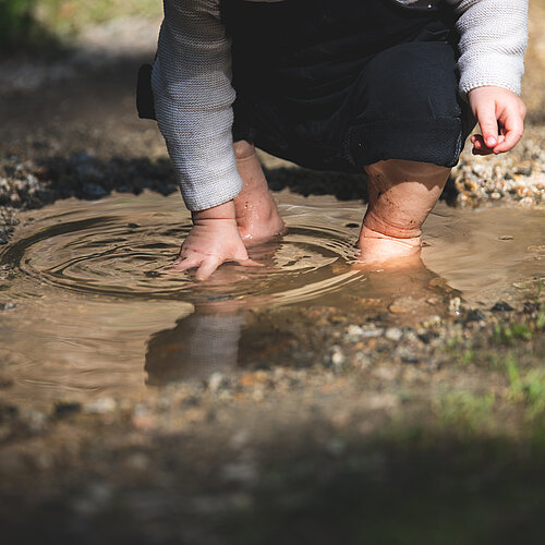
[{"label": "muddy bare lower leg below the rolled cuff, right of the ripples", "polygon": [[356,268],[420,265],[421,227],[441,194],[450,169],[390,159],[365,168],[370,204],[358,245]]}]

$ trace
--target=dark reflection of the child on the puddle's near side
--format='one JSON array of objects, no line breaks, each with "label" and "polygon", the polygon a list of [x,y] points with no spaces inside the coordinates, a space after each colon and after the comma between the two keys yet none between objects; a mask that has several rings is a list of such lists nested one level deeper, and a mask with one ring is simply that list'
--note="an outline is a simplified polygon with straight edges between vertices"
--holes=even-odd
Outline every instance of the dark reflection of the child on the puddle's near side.
[{"label": "dark reflection of the child on the puddle's near side", "polygon": [[[269,256],[270,257],[270,256]],[[431,315],[444,317],[459,292],[415,259],[410,268],[370,272],[350,292],[324,294],[311,305],[292,304],[268,311],[244,311],[242,301],[195,305],[195,312],[173,329],[154,334],[147,343],[147,384],[164,385],[207,378],[235,367],[312,365],[327,351],[317,323],[331,308],[350,323],[414,326]],[[322,325],[324,332],[327,328]],[[294,358],[294,354],[299,358]],[[298,361],[295,361],[298,360]]]}]

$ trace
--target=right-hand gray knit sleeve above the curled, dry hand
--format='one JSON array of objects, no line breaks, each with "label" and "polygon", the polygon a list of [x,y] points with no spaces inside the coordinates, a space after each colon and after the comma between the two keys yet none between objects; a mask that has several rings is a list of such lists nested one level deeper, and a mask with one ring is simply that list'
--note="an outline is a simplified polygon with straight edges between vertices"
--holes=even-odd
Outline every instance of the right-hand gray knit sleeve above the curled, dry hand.
[{"label": "right-hand gray knit sleeve above the curled, dry hand", "polygon": [[460,94],[497,85],[520,94],[529,0],[447,0],[458,14]]}]

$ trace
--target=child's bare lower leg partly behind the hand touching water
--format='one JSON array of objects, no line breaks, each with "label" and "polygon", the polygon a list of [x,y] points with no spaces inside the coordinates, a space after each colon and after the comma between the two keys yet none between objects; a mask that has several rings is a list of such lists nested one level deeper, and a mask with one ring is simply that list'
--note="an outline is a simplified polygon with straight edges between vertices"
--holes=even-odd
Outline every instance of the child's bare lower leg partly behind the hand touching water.
[{"label": "child's bare lower leg partly behind the hand touching water", "polygon": [[242,191],[234,198],[237,225],[244,244],[251,246],[283,234],[286,226],[278,214],[254,146],[240,141],[233,147],[243,183]]}]

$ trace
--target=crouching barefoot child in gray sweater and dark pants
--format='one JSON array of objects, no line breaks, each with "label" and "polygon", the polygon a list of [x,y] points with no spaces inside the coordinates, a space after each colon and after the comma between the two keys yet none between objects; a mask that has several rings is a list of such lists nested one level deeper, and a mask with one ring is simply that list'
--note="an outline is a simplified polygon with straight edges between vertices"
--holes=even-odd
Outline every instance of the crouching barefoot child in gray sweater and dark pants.
[{"label": "crouching barefoot child in gray sweater and dark pants", "polygon": [[368,177],[364,266],[401,265],[475,118],[473,153],[520,140],[528,0],[165,0],[152,83],[208,278],[284,230],[254,144]]}]

